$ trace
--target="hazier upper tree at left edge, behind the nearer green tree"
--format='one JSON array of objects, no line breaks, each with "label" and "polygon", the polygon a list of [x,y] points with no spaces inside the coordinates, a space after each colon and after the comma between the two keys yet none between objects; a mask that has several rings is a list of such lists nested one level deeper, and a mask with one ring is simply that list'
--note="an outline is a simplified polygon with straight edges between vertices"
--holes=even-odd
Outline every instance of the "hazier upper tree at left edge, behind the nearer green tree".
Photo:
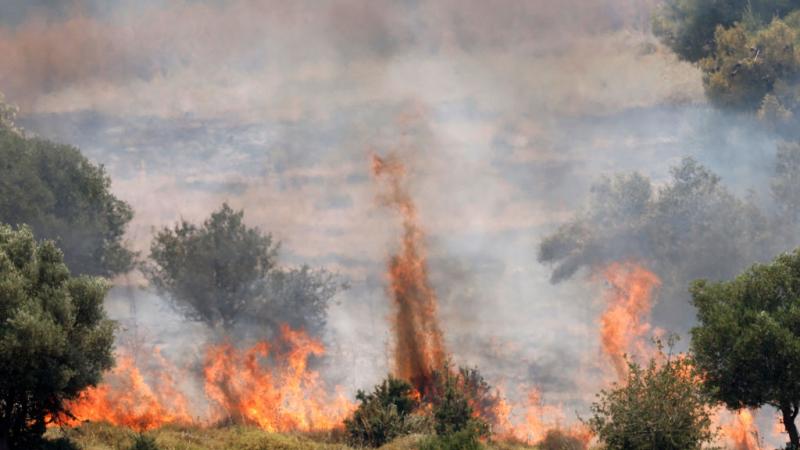
[{"label": "hazier upper tree at left edge, behind the nearer green tree", "polygon": [[[5,115],[0,108],[0,122]],[[123,245],[133,212],[110,186],[77,148],[0,126],[0,222],[55,240],[73,273],[112,276],[133,265]]]}]

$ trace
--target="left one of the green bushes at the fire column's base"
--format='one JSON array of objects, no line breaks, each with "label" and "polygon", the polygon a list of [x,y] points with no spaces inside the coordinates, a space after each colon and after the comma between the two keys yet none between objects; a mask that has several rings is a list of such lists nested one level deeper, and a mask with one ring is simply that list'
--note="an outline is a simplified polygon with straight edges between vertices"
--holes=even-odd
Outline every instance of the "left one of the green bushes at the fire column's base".
[{"label": "left one of the green bushes at the fire column's base", "polygon": [[423,418],[413,415],[419,407],[413,393],[408,382],[391,375],[370,394],[358,391],[356,398],[361,403],[344,422],[347,442],[353,446],[379,447],[425,428]]}]

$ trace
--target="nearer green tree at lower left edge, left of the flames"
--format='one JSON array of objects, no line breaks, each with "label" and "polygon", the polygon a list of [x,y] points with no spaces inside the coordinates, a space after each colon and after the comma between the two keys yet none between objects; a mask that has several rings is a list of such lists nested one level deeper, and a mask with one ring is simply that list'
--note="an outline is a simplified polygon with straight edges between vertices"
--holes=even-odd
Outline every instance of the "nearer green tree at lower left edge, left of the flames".
[{"label": "nearer green tree at lower left edge, left of the flames", "polygon": [[113,364],[107,284],[71,277],[52,241],[0,225],[0,449],[33,448]]}]

